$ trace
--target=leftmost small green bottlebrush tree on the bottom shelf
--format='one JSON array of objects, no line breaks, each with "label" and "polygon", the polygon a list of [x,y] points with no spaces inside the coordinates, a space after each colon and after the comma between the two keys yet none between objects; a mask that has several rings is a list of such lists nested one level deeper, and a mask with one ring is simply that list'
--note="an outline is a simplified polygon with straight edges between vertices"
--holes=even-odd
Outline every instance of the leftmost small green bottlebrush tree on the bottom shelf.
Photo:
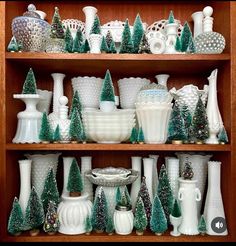
[{"label": "leftmost small green bottlebrush tree on the bottom shelf", "polygon": [[22,224],[24,218],[21,206],[17,197],[14,198],[11,213],[8,219],[7,231],[12,235],[20,235],[23,231]]}]

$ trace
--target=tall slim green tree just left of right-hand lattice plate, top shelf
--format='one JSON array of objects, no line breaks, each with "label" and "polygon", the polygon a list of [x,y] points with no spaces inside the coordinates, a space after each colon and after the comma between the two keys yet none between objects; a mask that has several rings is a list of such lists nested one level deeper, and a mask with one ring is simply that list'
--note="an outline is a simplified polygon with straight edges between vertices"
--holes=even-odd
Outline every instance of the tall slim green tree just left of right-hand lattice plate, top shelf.
[{"label": "tall slim green tree just left of right-hand lattice plate, top shelf", "polygon": [[134,21],[134,26],[133,26],[133,35],[132,35],[132,41],[134,45],[134,53],[138,53],[139,51],[139,45],[142,40],[144,34],[143,30],[143,23],[142,20],[139,16],[139,14],[136,15],[135,21]]}]

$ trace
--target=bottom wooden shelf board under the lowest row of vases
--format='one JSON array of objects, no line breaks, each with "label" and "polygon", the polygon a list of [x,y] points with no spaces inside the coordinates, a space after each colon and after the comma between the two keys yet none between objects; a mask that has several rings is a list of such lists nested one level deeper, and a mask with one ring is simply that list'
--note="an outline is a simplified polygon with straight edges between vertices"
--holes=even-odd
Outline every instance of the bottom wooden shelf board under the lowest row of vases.
[{"label": "bottom wooden shelf board under the lowest row of vases", "polygon": [[226,242],[229,241],[229,236],[185,236],[179,237],[170,236],[166,232],[162,236],[156,236],[150,231],[146,231],[143,236],[138,236],[135,232],[129,235],[107,235],[106,233],[91,233],[90,235],[63,235],[57,233],[55,235],[47,235],[41,232],[38,236],[30,236],[28,232],[24,232],[18,237],[7,236],[4,241],[7,242]]}]

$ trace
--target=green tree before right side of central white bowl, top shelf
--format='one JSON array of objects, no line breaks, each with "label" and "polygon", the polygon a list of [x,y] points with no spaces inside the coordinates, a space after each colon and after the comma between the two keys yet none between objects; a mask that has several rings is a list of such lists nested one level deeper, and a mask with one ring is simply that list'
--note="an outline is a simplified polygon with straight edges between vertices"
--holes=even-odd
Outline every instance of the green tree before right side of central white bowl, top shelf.
[{"label": "green tree before right side of central white bowl, top shelf", "polygon": [[120,54],[123,53],[133,53],[134,51],[134,45],[131,38],[131,32],[129,27],[129,21],[126,19],[124,30],[122,32],[122,39],[121,39],[121,45],[120,45]]}]

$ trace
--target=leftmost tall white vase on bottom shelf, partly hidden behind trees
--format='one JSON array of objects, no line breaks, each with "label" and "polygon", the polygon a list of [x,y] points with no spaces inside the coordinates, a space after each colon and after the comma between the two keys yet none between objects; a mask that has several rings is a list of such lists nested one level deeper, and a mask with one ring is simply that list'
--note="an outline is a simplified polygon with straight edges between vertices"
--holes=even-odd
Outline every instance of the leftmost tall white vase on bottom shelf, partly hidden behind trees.
[{"label": "leftmost tall white vase on bottom shelf, partly hidden behind trees", "polygon": [[20,195],[19,204],[22,209],[23,216],[25,216],[25,210],[28,204],[30,192],[31,192],[31,160],[19,160],[20,168]]}]

